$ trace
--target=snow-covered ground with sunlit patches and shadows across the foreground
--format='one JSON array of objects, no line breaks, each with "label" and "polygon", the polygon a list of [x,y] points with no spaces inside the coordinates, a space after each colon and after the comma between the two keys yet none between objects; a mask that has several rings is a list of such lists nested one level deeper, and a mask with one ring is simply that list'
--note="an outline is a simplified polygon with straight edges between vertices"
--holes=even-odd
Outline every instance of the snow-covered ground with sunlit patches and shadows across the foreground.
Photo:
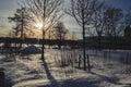
[{"label": "snow-covered ground with sunlit patches and shadows across the foreground", "polygon": [[[131,58],[130,51],[128,58]],[[0,67],[5,73],[5,87],[131,87],[131,66],[118,60],[124,58],[123,51],[87,50],[92,73],[78,69],[78,64],[59,66],[56,58],[78,58],[81,50],[46,49],[45,60],[40,54],[0,55]],[[83,67],[81,65],[81,67]]]}]

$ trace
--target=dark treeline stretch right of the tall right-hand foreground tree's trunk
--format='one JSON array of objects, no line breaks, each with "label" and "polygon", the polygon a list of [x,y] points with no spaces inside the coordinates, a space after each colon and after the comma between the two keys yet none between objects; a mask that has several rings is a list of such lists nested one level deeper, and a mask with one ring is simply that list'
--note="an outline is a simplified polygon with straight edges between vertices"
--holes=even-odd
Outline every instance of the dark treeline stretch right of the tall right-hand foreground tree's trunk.
[{"label": "dark treeline stretch right of the tall right-hand foreground tree's trunk", "polygon": [[94,49],[123,49],[131,50],[131,40],[126,37],[86,37],[86,47]]}]

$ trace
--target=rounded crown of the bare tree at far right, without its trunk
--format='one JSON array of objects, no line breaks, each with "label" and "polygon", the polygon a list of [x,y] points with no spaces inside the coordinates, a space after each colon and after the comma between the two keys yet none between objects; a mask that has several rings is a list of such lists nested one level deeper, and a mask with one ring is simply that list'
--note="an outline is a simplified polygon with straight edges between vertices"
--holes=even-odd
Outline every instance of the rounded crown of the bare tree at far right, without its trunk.
[{"label": "rounded crown of the bare tree at far right, without its trunk", "polygon": [[106,28],[105,28],[105,35],[106,36],[117,36],[117,27],[121,23],[122,20],[122,11],[121,9],[116,9],[109,7],[106,12],[104,17],[106,18]]}]

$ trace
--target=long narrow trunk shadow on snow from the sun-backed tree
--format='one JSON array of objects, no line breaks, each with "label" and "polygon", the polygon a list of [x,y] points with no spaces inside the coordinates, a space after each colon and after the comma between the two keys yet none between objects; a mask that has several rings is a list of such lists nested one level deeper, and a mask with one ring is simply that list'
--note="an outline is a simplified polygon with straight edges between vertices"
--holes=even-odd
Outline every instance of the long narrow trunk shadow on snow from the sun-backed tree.
[{"label": "long narrow trunk shadow on snow from the sun-backed tree", "polygon": [[51,75],[50,70],[48,67],[48,64],[47,64],[47,62],[45,60],[43,60],[43,65],[44,65],[47,78],[50,80],[50,85],[49,86],[40,86],[40,87],[59,87],[58,82]]}]

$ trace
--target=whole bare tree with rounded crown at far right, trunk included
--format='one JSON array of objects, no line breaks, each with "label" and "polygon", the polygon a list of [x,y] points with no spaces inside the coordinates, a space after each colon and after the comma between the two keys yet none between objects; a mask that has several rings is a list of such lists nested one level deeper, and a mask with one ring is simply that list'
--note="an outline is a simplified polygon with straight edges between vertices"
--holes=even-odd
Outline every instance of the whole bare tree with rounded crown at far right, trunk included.
[{"label": "whole bare tree with rounded crown at far right, trunk included", "polygon": [[[104,14],[104,17],[106,18],[104,33],[105,33],[105,36],[108,37],[108,40],[109,40],[108,48],[109,49],[112,44],[115,44],[117,46],[118,35],[121,30],[121,28],[119,28],[119,27],[121,26],[122,16],[123,16],[122,10],[112,8],[112,7],[107,8],[107,10]],[[116,48],[116,46],[114,46],[114,48]]]}]

